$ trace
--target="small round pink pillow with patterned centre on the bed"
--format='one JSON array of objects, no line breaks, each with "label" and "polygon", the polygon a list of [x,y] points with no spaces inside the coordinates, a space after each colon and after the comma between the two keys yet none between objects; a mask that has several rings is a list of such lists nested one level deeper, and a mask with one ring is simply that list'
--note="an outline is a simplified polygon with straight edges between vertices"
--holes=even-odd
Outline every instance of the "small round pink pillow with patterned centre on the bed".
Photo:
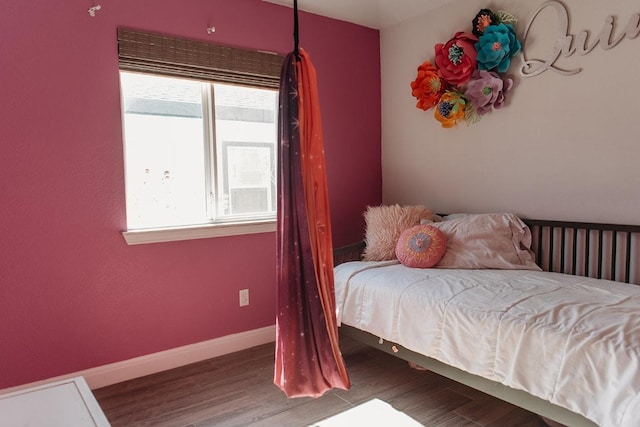
[{"label": "small round pink pillow with patterned centre on the bed", "polygon": [[429,268],[440,261],[447,250],[447,239],[440,229],[427,224],[415,225],[400,234],[396,257],[407,267]]}]

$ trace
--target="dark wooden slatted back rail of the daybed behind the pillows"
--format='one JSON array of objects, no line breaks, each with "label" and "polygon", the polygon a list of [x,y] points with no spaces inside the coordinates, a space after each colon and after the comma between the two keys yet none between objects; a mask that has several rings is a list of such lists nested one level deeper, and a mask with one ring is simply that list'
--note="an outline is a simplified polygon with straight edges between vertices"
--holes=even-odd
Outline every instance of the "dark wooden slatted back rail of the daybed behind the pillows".
[{"label": "dark wooden slatted back rail of the daybed behind the pillows", "polygon": [[[640,225],[523,219],[544,271],[640,285]],[[334,250],[334,264],[362,258],[365,242]]]}]

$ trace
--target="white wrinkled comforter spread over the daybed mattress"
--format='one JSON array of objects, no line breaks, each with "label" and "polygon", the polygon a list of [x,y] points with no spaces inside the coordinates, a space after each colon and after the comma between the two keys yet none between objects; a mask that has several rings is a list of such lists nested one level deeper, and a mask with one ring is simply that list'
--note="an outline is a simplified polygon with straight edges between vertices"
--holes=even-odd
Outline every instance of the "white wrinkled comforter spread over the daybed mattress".
[{"label": "white wrinkled comforter spread over the daybed mattress", "polygon": [[335,268],[338,322],[582,414],[640,426],[640,286],[512,270]]}]

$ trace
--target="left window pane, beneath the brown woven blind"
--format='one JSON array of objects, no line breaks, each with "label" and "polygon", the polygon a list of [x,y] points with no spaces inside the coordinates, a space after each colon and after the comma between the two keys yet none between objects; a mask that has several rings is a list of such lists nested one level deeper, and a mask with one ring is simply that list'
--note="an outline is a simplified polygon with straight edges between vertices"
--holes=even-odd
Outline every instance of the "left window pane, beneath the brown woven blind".
[{"label": "left window pane, beneath the brown woven blind", "polygon": [[128,228],[209,222],[202,83],[120,76]]}]

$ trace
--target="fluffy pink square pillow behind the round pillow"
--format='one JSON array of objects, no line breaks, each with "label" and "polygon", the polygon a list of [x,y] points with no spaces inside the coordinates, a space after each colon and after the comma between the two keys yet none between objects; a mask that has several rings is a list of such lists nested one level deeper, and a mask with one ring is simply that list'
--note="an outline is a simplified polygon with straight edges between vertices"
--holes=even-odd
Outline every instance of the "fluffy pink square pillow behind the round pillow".
[{"label": "fluffy pink square pillow behind the round pillow", "polygon": [[366,223],[365,261],[386,261],[396,258],[400,234],[422,220],[433,221],[433,212],[424,206],[369,206],[364,213]]}]

